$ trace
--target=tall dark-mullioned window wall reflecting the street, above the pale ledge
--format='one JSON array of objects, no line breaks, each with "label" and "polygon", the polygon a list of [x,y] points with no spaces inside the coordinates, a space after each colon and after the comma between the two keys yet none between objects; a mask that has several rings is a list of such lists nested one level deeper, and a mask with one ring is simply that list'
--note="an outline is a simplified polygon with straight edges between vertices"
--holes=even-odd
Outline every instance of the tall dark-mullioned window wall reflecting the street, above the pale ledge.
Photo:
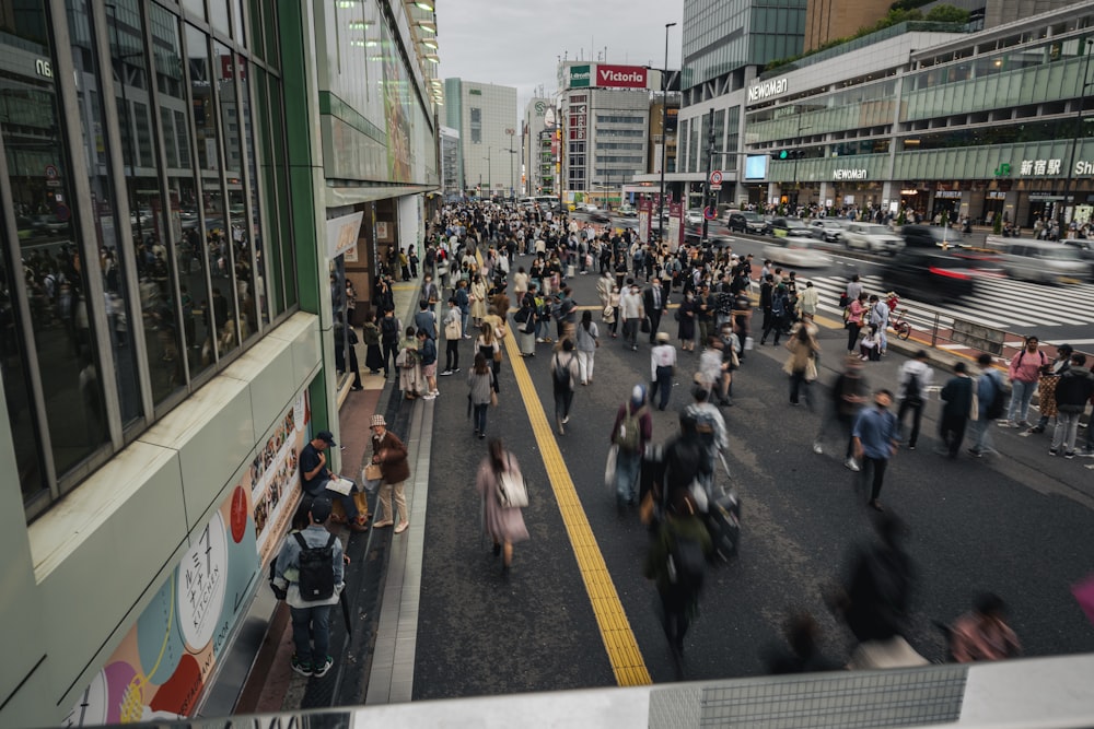
[{"label": "tall dark-mullioned window wall reflecting the street, above the pale ledge", "polygon": [[251,4],[3,3],[0,374],[31,518],[296,303],[276,47],[248,43],[276,7]]}]

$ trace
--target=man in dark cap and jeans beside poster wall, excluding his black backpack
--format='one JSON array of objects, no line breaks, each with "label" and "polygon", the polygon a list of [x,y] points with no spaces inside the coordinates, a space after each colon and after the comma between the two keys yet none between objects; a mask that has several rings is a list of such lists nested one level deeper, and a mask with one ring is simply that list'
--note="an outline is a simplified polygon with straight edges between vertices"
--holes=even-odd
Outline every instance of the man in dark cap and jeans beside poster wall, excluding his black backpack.
[{"label": "man in dark cap and jeans beside poster wall, excluding his black backpack", "polygon": [[[350,499],[352,501],[352,499]],[[290,534],[281,545],[274,566],[274,587],[284,590],[284,601],[292,615],[292,670],[301,675],[323,677],[334,665],[327,654],[330,642],[330,607],[338,603],[344,581],[341,542],[324,526],[330,518],[330,499],[319,496],[307,509],[307,527]],[[300,592],[300,555],[305,549],[326,548],[331,551],[334,592],[323,599],[306,600]],[[325,571],[324,571],[325,572]],[[330,583],[327,584],[329,588]]]}]

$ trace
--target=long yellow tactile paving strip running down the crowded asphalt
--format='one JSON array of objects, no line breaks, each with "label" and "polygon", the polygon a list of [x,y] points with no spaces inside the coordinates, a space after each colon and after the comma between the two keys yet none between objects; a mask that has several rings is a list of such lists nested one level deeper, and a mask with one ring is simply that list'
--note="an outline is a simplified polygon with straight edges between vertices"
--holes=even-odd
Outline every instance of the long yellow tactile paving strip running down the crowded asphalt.
[{"label": "long yellow tactile paving strip running down the crowded asphalt", "polygon": [[566,532],[570,537],[574,556],[578,557],[578,568],[585,583],[589,600],[593,604],[593,613],[596,615],[596,624],[604,639],[604,648],[608,652],[616,683],[620,686],[649,685],[652,683],[650,672],[638,649],[635,633],[630,630],[630,621],[627,620],[627,613],[619,602],[619,593],[616,592],[615,583],[612,581],[612,575],[604,564],[604,555],[601,554],[593,529],[585,518],[585,509],[578,498],[570,471],[562,460],[555,433],[551,431],[550,422],[539,402],[539,396],[532,384],[528,368],[524,366],[516,339],[511,331],[505,334],[505,350],[509,352],[513,375],[516,377],[516,385],[521,388],[521,396],[528,411],[532,432],[539,444],[539,452],[543,454],[544,467],[550,478],[558,509],[562,513]]}]

